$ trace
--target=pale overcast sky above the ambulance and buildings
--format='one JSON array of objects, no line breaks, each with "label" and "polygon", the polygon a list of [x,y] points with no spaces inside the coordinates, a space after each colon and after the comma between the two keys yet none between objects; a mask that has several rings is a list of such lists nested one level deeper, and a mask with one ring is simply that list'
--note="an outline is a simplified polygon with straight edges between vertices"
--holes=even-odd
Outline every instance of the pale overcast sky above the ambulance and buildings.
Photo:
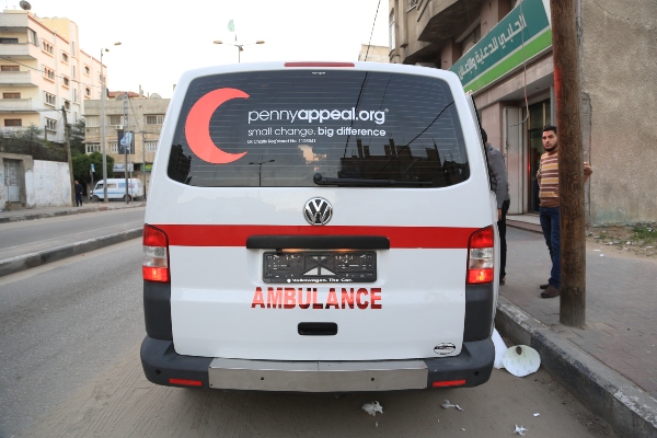
[{"label": "pale overcast sky above the ambulance and buildings", "polygon": [[[19,0],[0,1],[20,9]],[[238,62],[238,48],[228,44],[235,35],[246,44],[242,62],[356,61],[361,44],[388,46],[388,0],[28,1],[37,16],[76,22],[87,54],[99,59],[110,48],[103,64],[111,91],[141,85],[165,99],[184,71]]]}]

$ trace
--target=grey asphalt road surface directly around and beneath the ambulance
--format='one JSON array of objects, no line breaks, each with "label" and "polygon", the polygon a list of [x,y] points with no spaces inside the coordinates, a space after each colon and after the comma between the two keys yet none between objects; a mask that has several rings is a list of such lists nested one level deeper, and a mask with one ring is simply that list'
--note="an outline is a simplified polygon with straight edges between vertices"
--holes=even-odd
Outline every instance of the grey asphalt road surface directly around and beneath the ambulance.
[{"label": "grey asphalt road surface directly around and beneath the ambulance", "polygon": [[[140,260],[137,239],[0,278],[0,437],[614,437],[543,370],[341,397],[153,385]],[[376,417],[361,408],[374,401]]]}]

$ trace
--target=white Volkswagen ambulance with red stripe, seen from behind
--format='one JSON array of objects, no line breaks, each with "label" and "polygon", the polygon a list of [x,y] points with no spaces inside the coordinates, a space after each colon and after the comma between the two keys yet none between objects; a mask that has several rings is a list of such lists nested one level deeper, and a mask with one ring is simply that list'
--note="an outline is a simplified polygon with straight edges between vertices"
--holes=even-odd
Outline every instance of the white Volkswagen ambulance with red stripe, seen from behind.
[{"label": "white Volkswagen ambulance with red stripe, seen from behind", "polygon": [[184,73],[146,209],[147,378],[292,392],[486,382],[498,239],[485,160],[449,71]]}]

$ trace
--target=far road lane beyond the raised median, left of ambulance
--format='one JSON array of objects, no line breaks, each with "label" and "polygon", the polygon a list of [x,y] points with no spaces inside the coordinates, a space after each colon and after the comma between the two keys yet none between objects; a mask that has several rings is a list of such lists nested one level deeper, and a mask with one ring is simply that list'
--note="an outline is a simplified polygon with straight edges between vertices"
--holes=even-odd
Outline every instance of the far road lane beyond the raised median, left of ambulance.
[{"label": "far road lane beyond the raised median, left of ambulance", "polygon": [[3,223],[1,258],[49,250],[143,226],[145,207]]}]

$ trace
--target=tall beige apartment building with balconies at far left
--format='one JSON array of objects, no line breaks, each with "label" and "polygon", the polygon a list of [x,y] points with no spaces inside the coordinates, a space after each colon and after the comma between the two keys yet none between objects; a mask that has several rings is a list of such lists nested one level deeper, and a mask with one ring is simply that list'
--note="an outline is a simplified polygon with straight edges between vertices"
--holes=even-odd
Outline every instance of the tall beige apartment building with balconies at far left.
[{"label": "tall beige apartment building with balconies at far left", "polygon": [[78,25],[68,19],[3,11],[0,57],[3,132],[35,125],[48,140],[64,142],[61,108],[68,123],[74,124],[84,113],[84,103],[100,99],[101,64],[81,49]]}]

